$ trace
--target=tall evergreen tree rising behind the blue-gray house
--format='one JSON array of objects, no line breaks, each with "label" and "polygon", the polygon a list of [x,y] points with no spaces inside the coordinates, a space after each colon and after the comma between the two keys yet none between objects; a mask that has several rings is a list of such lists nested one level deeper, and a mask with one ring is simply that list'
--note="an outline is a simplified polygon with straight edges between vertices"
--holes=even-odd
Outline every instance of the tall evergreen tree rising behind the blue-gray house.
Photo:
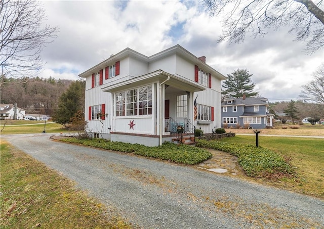
[{"label": "tall evergreen tree rising behind the blue-gray house", "polygon": [[223,82],[222,94],[225,97],[241,98],[258,95],[258,91],[253,91],[255,84],[251,80],[252,74],[247,69],[237,69],[232,74],[227,74],[228,79]]}]

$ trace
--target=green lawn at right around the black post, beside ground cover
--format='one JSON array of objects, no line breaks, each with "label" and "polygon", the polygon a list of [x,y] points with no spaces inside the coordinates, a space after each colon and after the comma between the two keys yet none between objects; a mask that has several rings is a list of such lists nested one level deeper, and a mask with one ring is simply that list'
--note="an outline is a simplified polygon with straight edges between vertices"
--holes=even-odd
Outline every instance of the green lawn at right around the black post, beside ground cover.
[{"label": "green lawn at right around the black post, beside ground cover", "polygon": [[[236,135],[220,140],[225,143],[255,145],[255,136]],[[282,178],[272,185],[324,198],[324,141],[309,138],[259,136],[259,146],[270,149],[289,160],[299,178]],[[263,180],[263,182],[268,182]]]}]

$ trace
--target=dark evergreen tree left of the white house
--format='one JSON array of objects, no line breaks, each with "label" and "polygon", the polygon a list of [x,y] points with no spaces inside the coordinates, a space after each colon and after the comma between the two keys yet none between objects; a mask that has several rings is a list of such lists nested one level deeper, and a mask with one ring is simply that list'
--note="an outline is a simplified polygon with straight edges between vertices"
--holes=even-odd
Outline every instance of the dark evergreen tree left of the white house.
[{"label": "dark evergreen tree left of the white house", "polygon": [[55,122],[65,126],[77,112],[84,110],[85,86],[85,81],[80,80],[70,84],[60,97],[59,108],[53,115]]}]

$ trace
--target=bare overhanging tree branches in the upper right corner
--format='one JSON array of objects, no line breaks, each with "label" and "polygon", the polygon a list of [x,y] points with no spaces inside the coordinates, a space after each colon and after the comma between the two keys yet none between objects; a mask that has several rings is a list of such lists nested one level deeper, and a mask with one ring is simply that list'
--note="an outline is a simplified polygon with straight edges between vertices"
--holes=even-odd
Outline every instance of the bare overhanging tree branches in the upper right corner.
[{"label": "bare overhanging tree branches in the upper right corner", "polygon": [[264,36],[268,28],[289,26],[296,40],[307,41],[306,50],[313,53],[324,46],[323,0],[204,0],[211,15],[223,17],[223,35],[218,41],[240,43],[247,32]]}]

